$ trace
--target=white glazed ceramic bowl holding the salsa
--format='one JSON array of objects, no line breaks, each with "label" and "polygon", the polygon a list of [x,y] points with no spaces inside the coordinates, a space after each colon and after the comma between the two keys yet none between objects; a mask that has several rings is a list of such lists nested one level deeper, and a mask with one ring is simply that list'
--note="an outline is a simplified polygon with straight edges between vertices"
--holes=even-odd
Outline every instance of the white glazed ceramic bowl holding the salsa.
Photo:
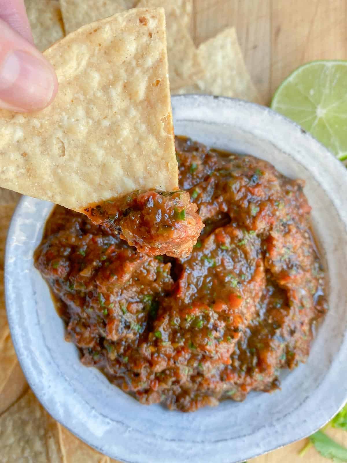
[{"label": "white glazed ceramic bowl holding the salsa", "polygon": [[23,197],[6,245],[6,304],[26,378],[48,412],[97,450],[131,463],[235,463],[308,436],[347,399],[347,171],[299,126],[262,106],[210,96],[172,99],[175,132],[266,159],[303,178],[328,271],[330,311],[308,362],[281,375],[282,390],[251,393],[195,413],[146,407],[84,367],[64,341],[50,292],[33,267],[52,204]]}]

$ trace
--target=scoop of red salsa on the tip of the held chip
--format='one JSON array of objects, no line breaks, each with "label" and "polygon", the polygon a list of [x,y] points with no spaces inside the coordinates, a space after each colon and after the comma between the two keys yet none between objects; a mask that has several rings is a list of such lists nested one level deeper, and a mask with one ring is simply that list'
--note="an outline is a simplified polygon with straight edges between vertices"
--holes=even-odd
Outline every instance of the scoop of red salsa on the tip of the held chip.
[{"label": "scoop of red salsa on the tip of the held chip", "polygon": [[85,207],[83,213],[151,256],[187,257],[204,224],[189,193],[134,192],[117,200]]}]

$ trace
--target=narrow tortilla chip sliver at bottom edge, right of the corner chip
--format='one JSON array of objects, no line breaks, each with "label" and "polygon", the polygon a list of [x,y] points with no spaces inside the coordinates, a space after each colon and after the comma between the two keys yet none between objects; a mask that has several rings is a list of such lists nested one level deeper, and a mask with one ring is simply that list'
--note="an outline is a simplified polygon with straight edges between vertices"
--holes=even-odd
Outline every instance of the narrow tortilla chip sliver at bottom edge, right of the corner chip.
[{"label": "narrow tortilla chip sliver at bottom edge, right of the corner chip", "polygon": [[109,457],[105,457],[102,453],[84,444],[59,423],[57,426],[64,463],[104,463],[110,461]]}]

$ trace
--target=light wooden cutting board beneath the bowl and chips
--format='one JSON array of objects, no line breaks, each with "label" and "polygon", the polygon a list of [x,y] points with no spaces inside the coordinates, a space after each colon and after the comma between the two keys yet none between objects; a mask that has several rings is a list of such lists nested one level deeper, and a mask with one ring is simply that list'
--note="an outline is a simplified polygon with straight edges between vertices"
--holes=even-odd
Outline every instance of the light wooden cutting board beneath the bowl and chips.
[{"label": "light wooden cutting board beneath the bowl and chips", "polygon": [[[315,59],[347,59],[346,20],[345,0],[194,0],[191,32],[198,45],[224,27],[235,26],[254,84],[269,103],[279,83],[297,66]],[[6,201],[12,204],[13,198],[0,190],[0,204]],[[8,390],[1,394],[3,408],[26,388],[19,365],[11,378]],[[347,432],[328,433],[347,445]],[[314,449],[304,458],[298,457],[304,444],[300,441],[288,445],[252,463],[328,461]]]}]

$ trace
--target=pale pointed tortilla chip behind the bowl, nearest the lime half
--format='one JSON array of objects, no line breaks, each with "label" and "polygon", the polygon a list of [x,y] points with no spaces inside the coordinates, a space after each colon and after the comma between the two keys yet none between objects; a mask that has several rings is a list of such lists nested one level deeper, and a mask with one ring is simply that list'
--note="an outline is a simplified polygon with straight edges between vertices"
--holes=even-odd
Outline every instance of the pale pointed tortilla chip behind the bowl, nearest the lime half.
[{"label": "pale pointed tortilla chip behind the bowl, nearest the lime half", "polygon": [[261,103],[243,61],[235,28],[225,29],[216,37],[203,42],[198,53],[206,74],[195,85],[181,88],[176,93],[230,96]]}]

